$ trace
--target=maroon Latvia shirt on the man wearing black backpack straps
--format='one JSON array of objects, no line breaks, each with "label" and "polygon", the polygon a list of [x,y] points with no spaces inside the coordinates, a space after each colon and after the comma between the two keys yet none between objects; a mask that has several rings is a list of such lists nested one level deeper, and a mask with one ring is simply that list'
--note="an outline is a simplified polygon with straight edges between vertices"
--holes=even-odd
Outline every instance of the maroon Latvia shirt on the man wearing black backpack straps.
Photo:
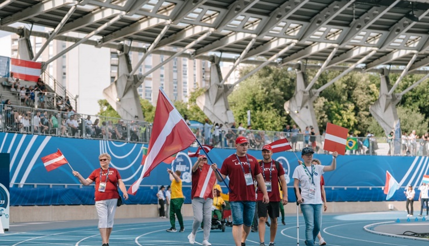
[{"label": "maroon Latvia shirt on the man wearing black backpack straps", "polygon": [[[263,165],[262,165],[263,164]],[[264,163],[262,161],[260,164],[261,170],[263,169],[265,180],[264,182],[269,182],[269,169],[271,166],[271,192],[268,192],[268,197],[270,202],[279,202],[280,199],[280,190],[278,188],[278,176],[284,175],[283,166],[281,163],[278,164],[278,169],[275,168],[275,161]],[[260,188],[258,188],[258,201],[262,201],[263,194]]]}]

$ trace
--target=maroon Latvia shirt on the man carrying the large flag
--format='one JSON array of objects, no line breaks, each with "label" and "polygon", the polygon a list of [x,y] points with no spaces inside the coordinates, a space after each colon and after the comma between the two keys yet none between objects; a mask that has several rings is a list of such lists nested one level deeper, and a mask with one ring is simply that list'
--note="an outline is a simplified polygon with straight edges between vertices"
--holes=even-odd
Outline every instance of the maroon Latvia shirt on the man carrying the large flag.
[{"label": "maroon Latvia shirt on the man carrying the large flag", "polygon": [[[249,164],[246,156],[240,156],[245,173],[249,173]],[[252,176],[255,177],[261,173],[257,158],[247,155],[249,159]],[[222,164],[221,173],[230,177],[230,201],[256,201],[255,186],[246,185],[242,167],[235,154],[228,156]]]}]

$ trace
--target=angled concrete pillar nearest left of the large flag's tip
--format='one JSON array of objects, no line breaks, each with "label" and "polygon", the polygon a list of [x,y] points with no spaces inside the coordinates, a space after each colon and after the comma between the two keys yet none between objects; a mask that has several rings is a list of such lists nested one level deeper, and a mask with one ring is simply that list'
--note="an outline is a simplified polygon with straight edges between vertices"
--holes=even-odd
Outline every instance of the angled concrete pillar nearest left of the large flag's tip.
[{"label": "angled concrete pillar nearest left of the large flag's tip", "polygon": [[129,55],[121,52],[118,56],[118,79],[103,90],[103,95],[121,118],[142,121],[143,112],[136,87],[139,79],[136,75],[128,79],[131,70]]}]

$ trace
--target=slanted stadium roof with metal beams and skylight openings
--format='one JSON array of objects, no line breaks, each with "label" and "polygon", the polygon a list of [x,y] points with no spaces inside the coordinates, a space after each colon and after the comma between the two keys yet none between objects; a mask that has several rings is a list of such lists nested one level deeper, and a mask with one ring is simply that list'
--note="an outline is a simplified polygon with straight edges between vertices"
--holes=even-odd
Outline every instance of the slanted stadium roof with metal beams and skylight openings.
[{"label": "slanted stadium roof with metal beams and skylight openings", "polygon": [[[0,30],[12,24],[54,29],[31,35],[98,47],[124,41],[184,48],[181,56],[221,61],[291,64],[327,61],[326,68],[362,61],[379,65],[429,64],[429,1],[424,0],[6,0]],[[84,38],[68,35],[84,33]],[[83,40],[83,41],[82,41]],[[261,58],[263,57],[263,58]],[[223,59],[223,60],[222,60]],[[262,61],[261,61],[262,60]]]}]

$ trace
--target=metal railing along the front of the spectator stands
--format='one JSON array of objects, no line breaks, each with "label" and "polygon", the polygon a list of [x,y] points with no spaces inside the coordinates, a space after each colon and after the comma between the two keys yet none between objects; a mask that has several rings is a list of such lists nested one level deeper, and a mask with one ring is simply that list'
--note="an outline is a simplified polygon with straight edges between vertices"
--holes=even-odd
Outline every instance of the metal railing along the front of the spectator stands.
[{"label": "metal railing along the front of the spectator stands", "polygon": [[[50,97],[49,94],[44,96],[45,103],[51,103],[54,100],[54,96]],[[146,121],[129,121],[100,115],[79,114],[74,111],[64,112],[3,104],[0,104],[0,110],[0,131],[5,132],[148,143],[152,130],[152,124]],[[311,147],[316,153],[325,153],[323,135],[229,128],[212,129],[211,125],[190,128],[200,143],[217,148],[235,148],[235,140],[240,136],[249,140],[249,149],[257,150],[262,149],[265,144],[286,138],[293,148],[290,151],[301,151],[305,147]],[[347,155],[429,155],[427,140],[389,140],[387,137],[353,137],[351,139],[355,144],[352,146],[353,149],[346,151]],[[193,143],[192,146],[196,147],[197,143]]]}]

